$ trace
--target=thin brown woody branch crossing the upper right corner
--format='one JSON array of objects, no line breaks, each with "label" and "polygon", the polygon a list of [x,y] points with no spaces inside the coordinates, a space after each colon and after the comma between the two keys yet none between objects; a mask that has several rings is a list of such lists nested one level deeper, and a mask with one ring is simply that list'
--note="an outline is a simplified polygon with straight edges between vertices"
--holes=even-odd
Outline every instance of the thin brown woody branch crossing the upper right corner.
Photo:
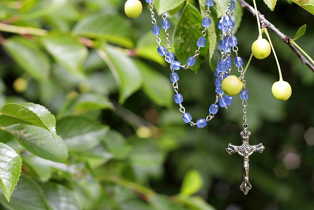
[{"label": "thin brown woody branch crossing the upper right corner", "polygon": [[[253,16],[256,16],[255,9],[248,4],[245,0],[238,0],[242,6],[242,8],[246,8],[250,13],[252,13]],[[269,22],[267,19],[265,19],[264,15],[261,14],[259,11],[258,17],[261,22],[262,28],[269,28],[271,31],[273,31],[280,39],[282,39],[295,54],[300,58],[302,65],[306,64],[313,72],[314,72],[314,66],[302,55],[302,53],[293,45],[290,43],[291,38],[289,36],[284,35],[282,32],[280,32],[271,22]]]}]

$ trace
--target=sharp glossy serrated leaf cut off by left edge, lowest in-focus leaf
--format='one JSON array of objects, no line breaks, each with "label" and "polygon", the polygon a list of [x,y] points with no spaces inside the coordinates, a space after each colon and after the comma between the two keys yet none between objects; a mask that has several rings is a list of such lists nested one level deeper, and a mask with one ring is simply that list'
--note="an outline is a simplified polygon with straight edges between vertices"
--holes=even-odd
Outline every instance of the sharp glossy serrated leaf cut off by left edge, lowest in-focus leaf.
[{"label": "sharp glossy serrated leaf cut off by left edge, lowest in-focus leaf", "polygon": [[0,186],[8,202],[19,180],[22,158],[11,147],[0,142]]}]

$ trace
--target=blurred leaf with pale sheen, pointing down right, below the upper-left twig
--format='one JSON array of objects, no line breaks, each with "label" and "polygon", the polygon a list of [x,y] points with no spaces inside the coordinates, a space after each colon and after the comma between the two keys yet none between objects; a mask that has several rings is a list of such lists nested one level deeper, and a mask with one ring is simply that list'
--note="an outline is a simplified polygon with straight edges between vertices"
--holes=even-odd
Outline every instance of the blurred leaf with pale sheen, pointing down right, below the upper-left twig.
[{"label": "blurred leaf with pale sheen, pointing down right, below the upper-left twig", "polygon": [[[87,57],[87,48],[77,37],[66,34],[50,33],[42,37],[41,42],[52,57],[74,75],[82,75],[83,61]],[[83,76],[83,75],[82,75]]]}]

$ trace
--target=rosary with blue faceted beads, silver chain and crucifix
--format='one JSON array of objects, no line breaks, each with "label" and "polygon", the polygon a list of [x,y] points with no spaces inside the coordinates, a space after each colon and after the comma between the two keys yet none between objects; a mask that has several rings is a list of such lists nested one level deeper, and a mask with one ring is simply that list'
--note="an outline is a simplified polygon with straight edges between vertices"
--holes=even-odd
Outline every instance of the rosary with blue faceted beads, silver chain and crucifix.
[{"label": "rosary with blue faceted beads, silver chain and crucifix", "polygon": [[[210,7],[214,5],[214,0],[206,0],[206,16],[202,20],[202,26],[204,27],[202,31],[202,36],[198,38],[196,46],[198,47],[197,50],[195,50],[194,55],[187,58],[186,63],[183,65],[181,62],[175,60],[175,55],[172,52],[171,46],[170,46],[170,40],[169,40],[169,32],[168,29],[170,28],[170,21],[167,19],[167,14],[165,12],[162,14],[162,21],[161,21],[161,27],[165,30],[165,39],[166,39],[166,47],[161,45],[161,39],[159,37],[161,33],[160,26],[157,25],[155,14],[154,14],[154,7],[153,7],[153,0],[146,0],[147,3],[149,3],[149,10],[151,13],[151,19],[152,19],[152,33],[154,36],[156,36],[156,42],[158,44],[157,52],[160,54],[160,56],[165,57],[165,61],[170,64],[171,74],[170,74],[170,80],[172,82],[172,86],[175,91],[174,100],[175,102],[180,106],[179,110],[182,115],[182,119],[185,123],[189,123],[192,127],[195,125],[198,128],[203,128],[207,125],[207,122],[214,118],[214,115],[218,112],[219,106],[221,108],[227,109],[229,105],[232,103],[232,96],[229,95],[237,95],[240,92],[240,98],[242,99],[242,107],[243,107],[243,124],[242,124],[242,131],[240,132],[241,138],[242,138],[242,144],[240,146],[233,145],[231,143],[228,144],[228,147],[226,148],[226,151],[228,154],[232,153],[238,153],[242,157],[242,182],[240,185],[240,190],[244,192],[246,195],[248,191],[252,188],[250,182],[249,182],[249,156],[253,152],[260,152],[262,153],[264,150],[264,146],[262,143],[259,143],[257,145],[250,145],[249,144],[249,137],[251,132],[248,131],[248,124],[246,122],[246,106],[247,106],[247,99],[249,98],[249,92],[245,89],[246,81],[244,80],[244,72],[243,69],[243,61],[242,58],[238,56],[238,47],[237,45],[237,39],[235,36],[233,36],[233,28],[235,26],[235,23],[232,20],[232,14],[233,10],[235,8],[235,2],[233,0],[230,0],[228,3],[228,6],[226,8],[225,16],[222,17],[218,23],[218,28],[220,31],[220,37],[221,40],[219,41],[219,49],[221,54],[221,59],[217,63],[217,67],[214,71],[214,75],[216,76],[215,79],[215,92],[216,92],[216,100],[215,102],[209,107],[209,114],[206,118],[198,119],[196,123],[192,122],[192,116],[185,111],[185,108],[182,105],[183,102],[183,96],[181,93],[179,93],[179,87],[178,87],[178,81],[179,81],[179,75],[175,72],[175,70],[179,70],[180,68],[188,69],[190,66],[193,66],[196,63],[196,59],[198,58],[200,54],[200,50],[202,47],[206,45],[206,30],[211,24],[211,19],[209,18],[210,15]],[[240,80],[234,76],[230,75],[231,70],[231,64],[232,64],[232,58],[231,58],[231,49],[233,52],[235,52],[236,57],[233,60],[233,63],[238,68],[238,72],[240,73]],[[224,81],[230,81],[230,80],[239,80],[241,83],[237,85],[237,90],[229,90],[224,91]],[[224,93],[228,93],[229,95],[224,95]],[[231,94],[230,94],[231,92]],[[218,104],[218,105],[217,105]]]}]

